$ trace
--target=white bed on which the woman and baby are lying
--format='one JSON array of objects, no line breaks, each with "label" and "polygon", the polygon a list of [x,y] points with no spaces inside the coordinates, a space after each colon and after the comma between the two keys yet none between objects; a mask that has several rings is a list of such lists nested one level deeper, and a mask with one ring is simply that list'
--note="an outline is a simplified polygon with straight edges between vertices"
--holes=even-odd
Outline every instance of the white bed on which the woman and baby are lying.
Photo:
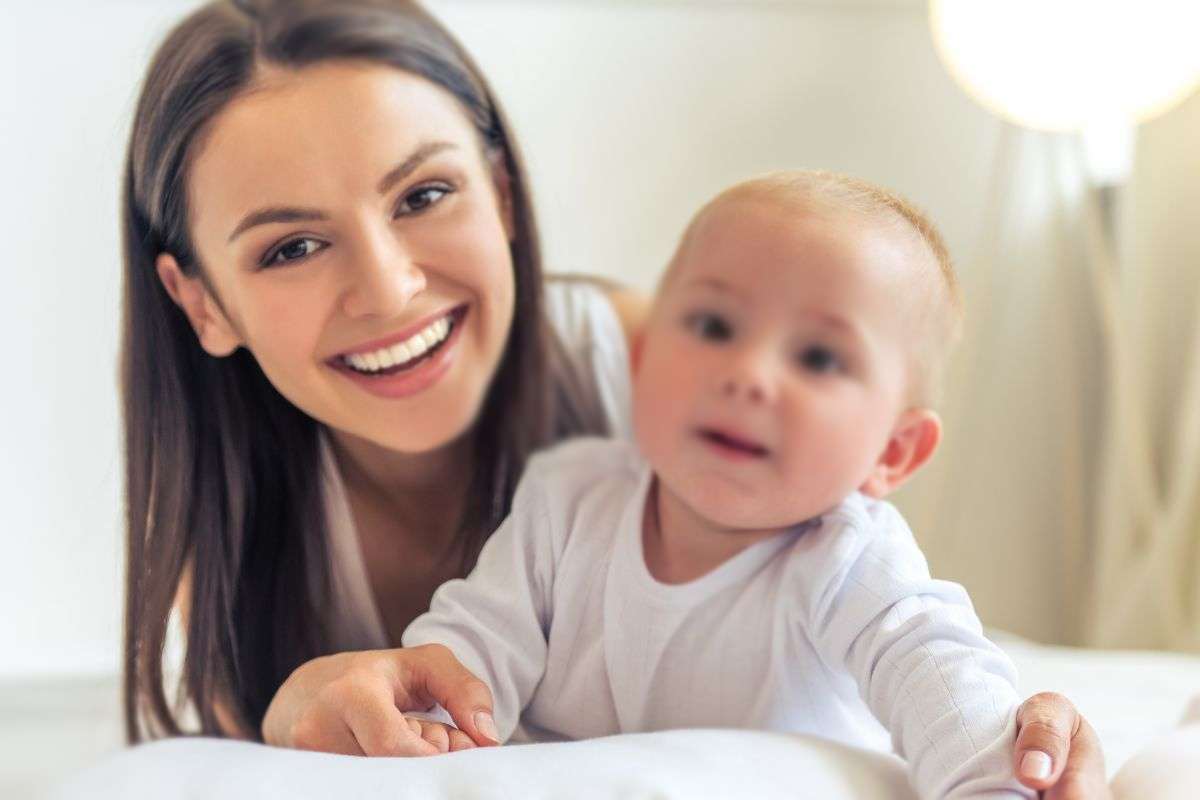
[{"label": "white bed on which the woman and baby are lying", "polygon": [[[1078,704],[1104,742],[1110,774],[1174,730],[1200,693],[1198,656],[994,638],[1016,661],[1024,693],[1060,691]],[[754,732],[676,730],[416,760],[215,740],[121,751],[115,691],[115,679],[0,685],[0,796],[912,799],[892,757]]]}]

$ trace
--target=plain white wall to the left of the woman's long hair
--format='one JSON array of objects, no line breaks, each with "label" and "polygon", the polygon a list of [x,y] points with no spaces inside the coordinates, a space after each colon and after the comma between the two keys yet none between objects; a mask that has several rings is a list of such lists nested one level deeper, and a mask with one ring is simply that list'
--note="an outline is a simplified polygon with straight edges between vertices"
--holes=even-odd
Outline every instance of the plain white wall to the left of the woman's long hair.
[{"label": "plain white wall to the left of the woman's long hair", "polygon": [[0,675],[116,666],[118,176],[138,72],[174,13],[0,12]]}]

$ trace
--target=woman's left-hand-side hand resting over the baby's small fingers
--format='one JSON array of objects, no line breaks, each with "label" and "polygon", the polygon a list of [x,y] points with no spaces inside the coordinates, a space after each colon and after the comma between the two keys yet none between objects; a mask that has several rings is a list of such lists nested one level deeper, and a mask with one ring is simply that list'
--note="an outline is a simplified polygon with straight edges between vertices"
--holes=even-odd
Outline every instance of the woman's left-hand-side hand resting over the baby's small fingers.
[{"label": "woman's left-hand-side hand resting over the baby's small fingers", "polygon": [[[434,704],[457,729],[402,714]],[[498,744],[491,691],[438,644],[341,652],[301,664],[266,709],[263,740],[350,756],[433,756]]]}]

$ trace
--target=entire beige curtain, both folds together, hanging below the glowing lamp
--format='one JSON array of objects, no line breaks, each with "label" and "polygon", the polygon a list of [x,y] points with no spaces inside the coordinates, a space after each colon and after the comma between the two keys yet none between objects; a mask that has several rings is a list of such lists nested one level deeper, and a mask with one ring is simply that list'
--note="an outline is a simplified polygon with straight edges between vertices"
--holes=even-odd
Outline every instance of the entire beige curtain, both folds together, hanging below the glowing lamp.
[{"label": "entire beige curtain, both folds together, hanging below the glowing lamp", "polygon": [[947,438],[898,501],[989,625],[1200,650],[1200,96],[1139,131],[1115,229],[1076,138],[995,152]]}]

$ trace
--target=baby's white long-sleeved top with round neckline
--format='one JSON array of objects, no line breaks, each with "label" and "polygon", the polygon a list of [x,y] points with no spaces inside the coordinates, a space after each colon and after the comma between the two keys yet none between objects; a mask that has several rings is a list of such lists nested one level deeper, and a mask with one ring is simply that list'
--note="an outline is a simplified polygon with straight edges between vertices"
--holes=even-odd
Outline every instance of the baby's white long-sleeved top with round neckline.
[{"label": "baby's white long-sleeved top with round neckline", "polygon": [[668,585],[642,553],[650,475],[619,440],[530,459],[404,645],[443,643],[485,680],[503,739],[743,727],[882,750],[883,721],[923,798],[1033,796],[1010,766],[1015,668],[894,506],[853,494]]}]

